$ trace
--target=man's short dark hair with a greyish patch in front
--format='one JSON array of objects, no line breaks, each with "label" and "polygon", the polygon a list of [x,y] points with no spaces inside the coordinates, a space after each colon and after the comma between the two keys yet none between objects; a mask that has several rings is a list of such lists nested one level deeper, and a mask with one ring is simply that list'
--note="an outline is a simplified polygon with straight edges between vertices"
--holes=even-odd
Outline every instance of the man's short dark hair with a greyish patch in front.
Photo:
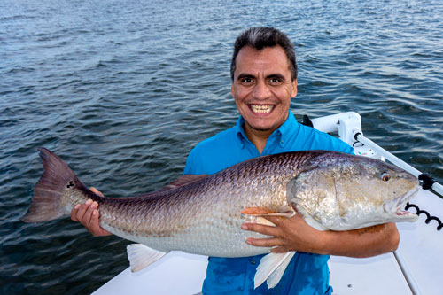
[{"label": "man's short dark hair with a greyish patch in front", "polygon": [[230,63],[230,78],[234,81],[234,72],[236,71],[236,58],[238,52],[245,46],[251,46],[256,50],[262,50],[265,47],[274,47],[279,45],[286,53],[291,70],[291,79],[297,79],[297,63],[295,60],[295,50],[291,40],[284,33],[274,27],[251,27],[237,37],[234,43],[234,54]]}]

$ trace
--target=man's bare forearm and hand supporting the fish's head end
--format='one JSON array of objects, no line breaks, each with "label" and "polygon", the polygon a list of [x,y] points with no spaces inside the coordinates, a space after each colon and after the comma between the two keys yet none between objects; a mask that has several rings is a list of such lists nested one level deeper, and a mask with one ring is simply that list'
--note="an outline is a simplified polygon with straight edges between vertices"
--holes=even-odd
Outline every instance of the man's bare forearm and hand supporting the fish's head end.
[{"label": "man's bare forearm and hand supporting the fish's head end", "polygon": [[304,221],[301,215],[291,218],[268,216],[276,227],[245,223],[242,229],[271,236],[246,240],[249,245],[274,247],[272,252],[300,251],[347,257],[370,257],[392,252],[400,241],[395,223],[347,231],[317,230]]}]

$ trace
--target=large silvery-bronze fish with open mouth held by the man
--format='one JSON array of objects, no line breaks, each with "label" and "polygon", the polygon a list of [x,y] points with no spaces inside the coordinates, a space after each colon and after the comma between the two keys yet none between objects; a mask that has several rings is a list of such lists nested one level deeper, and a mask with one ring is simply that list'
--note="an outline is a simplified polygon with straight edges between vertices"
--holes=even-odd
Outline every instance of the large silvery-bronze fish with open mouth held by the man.
[{"label": "large silvery-bronze fish with open mouth held by the man", "polygon": [[[243,257],[270,252],[247,245],[266,237],[241,229],[262,215],[301,213],[315,229],[359,229],[392,221],[416,221],[401,211],[418,190],[416,177],[385,162],[333,151],[295,151],[250,159],[215,175],[183,175],[167,187],[133,198],[97,196],[56,154],[39,149],[44,173],[25,222],[69,215],[76,204],[97,201],[100,225],[137,242],[128,245],[133,271],[165,253],[181,250],[208,256]],[[264,213],[263,213],[263,209]],[[255,286],[273,287],[293,252],[269,253]]]}]

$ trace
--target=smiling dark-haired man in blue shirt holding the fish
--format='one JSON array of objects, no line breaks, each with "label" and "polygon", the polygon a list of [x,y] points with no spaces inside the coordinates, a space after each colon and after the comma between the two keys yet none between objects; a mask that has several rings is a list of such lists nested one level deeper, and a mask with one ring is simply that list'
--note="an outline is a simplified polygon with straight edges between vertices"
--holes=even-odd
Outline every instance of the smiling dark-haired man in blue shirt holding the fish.
[{"label": "smiling dark-haired man in blue shirt holding the fish", "polygon": [[[214,174],[260,155],[284,151],[352,152],[336,138],[299,125],[289,111],[297,94],[295,52],[286,35],[271,27],[253,27],[238,36],[231,62],[231,93],[241,114],[237,125],[198,144],[188,157],[184,174]],[[97,203],[76,206],[74,221],[93,235],[108,234],[98,225]],[[395,224],[334,232],[318,231],[299,216],[269,217],[276,227],[245,223],[242,229],[270,236],[249,238],[273,252],[297,251],[275,288],[266,283],[253,289],[262,255],[245,258],[210,257],[203,293],[330,294],[328,255],[368,257],[391,252],[399,243]]]}]

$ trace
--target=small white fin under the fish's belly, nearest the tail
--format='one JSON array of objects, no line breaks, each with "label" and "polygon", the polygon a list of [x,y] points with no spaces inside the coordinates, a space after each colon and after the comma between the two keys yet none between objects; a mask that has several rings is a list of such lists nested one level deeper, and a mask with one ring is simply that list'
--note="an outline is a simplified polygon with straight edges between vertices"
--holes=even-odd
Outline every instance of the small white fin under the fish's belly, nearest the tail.
[{"label": "small white fin under the fish's belly, nearest the tail", "polygon": [[143,244],[130,244],[126,247],[126,251],[133,273],[146,268],[167,253],[151,249]]}]

